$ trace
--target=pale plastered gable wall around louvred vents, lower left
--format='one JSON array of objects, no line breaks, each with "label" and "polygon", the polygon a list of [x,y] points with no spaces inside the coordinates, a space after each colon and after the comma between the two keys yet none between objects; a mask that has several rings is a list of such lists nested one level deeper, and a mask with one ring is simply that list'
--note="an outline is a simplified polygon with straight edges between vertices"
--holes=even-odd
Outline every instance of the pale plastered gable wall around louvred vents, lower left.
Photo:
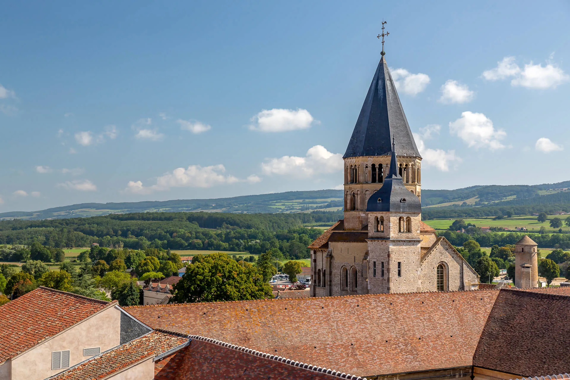
[{"label": "pale plastered gable wall around louvred vents, lower left", "polygon": [[[100,347],[101,352],[120,344],[121,312],[103,309],[70,329],[40,343],[12,360],[12,379],[42,380],[62,370],[51,369],[53,351],[70,350],[70,366],[84,361],[84,348]],[[2,378],[3,379],[3,378]]]}]

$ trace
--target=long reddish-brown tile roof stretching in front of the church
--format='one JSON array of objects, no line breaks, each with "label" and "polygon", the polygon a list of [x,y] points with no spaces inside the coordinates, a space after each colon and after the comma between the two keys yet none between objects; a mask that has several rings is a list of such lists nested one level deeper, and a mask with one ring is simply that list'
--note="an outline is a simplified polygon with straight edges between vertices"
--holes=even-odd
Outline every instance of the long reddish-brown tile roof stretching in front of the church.
[{"label": "long reddish-brown tile roof stretching in front of the church", "polygon": [[[449,363],[470,366],[498,294],[393,293],[125,310],[152,328],[199,334],[266,353],[277,350],[295,361],[372,376],[447,368]],[[303,316],[310,316],[310,323]]]}]

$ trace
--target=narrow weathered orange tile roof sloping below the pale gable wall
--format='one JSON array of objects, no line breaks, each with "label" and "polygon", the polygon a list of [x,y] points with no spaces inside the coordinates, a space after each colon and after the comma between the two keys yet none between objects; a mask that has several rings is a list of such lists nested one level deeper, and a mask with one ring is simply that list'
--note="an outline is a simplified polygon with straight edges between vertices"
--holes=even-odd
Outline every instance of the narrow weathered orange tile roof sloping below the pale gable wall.
[{"label": "narrow weathered orange tile roof sloping below the pale gable wall", "polygon": [[188,336],[153,331],[51,377],[53,380],[100,379],[149,356],[159,356],[189,342]]}]

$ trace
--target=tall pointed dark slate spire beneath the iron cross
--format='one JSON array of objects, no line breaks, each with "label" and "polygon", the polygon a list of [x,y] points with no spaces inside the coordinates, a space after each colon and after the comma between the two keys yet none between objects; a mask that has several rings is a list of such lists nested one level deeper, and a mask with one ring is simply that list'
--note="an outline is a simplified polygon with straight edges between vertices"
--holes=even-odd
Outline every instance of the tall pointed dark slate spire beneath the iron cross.
[{"label": "tall pointed dark slate spire beneath the iron cross", "polygon": [[392,137],[398,141],[398,156],[421,157],[388,64],[382,57],[343,158],[388,156]]}]

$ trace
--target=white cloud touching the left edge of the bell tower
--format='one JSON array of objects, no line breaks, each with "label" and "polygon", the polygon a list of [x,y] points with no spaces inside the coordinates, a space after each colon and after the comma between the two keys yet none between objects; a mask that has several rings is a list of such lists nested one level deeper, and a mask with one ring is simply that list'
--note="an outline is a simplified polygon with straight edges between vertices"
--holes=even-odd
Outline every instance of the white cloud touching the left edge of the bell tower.
[{"label": "white cloud touching the left edge of the bell tower", "polygon": [[323,145],[315,145],[307,150],[305,157],[283,156],[270,158],[261,164],[263,174],[310,177],[321,173],[333,173],[343,169],[343,155],[331,153]]}]

